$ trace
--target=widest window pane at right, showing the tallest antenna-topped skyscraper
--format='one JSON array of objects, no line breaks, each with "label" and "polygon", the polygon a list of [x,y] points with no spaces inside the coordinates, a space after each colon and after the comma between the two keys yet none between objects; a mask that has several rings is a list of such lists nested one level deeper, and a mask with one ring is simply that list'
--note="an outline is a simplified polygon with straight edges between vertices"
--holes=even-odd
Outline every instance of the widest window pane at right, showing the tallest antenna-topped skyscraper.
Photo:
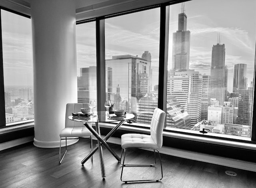
[{"label": "widest window pane at right, showing the tallest antenna-topped skyscraper", "polygon": [[170,6],[166,129],[251,137],[255,6],[229,0]]}]

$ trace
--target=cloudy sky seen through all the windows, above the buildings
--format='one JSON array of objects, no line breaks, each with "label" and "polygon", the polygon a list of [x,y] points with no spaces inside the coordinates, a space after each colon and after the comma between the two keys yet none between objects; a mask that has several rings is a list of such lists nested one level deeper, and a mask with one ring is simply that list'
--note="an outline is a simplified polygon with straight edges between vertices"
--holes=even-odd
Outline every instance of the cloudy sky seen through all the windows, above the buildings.
[{"label": "cloudy sky seen through all the windows, above the buildings", "polygon": [[[233,66],[247,64],[248,84],[254,77],[256,42],[255,0],[192,0],[185,2],[190,31],[190,69],[210,75],[211,53],[220,33],[225,44],[228,91],[232,92]],[[170,6],[168,68],[172,34],[178,29],[181,4]],[[153,85],[158,84],[160,8],[105,20],[106,59],[112,55],[152,56]],[[4,84],[32,84],[31,20],[2,11]],[[77,70],[96,65],[95,22],[76,26]],[[14,79],[14,81],[13,81]],[[15,84],[14,84],[15,82]]]}]

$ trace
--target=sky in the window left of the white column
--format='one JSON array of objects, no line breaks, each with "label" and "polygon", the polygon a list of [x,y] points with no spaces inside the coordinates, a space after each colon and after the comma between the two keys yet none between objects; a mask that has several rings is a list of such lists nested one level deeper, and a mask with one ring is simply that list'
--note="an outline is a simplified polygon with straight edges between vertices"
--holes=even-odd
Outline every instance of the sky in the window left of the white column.
[{"label": "sky in the window left of the white column", "polygon": [[4,85],[33,86],[31,20],[1,10]]}]

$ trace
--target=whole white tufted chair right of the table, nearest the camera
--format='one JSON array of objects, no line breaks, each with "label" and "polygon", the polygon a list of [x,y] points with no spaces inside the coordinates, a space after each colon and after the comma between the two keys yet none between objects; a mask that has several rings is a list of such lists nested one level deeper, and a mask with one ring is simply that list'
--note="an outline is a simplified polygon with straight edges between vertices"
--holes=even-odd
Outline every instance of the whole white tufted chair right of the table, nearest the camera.
[{"label": "whole white tufted chair right of the table, nearest the camera", "polygon": [[[163,129],[164,129],[164,121],[165,121],[165,112],[161,109],[156,108],[153,113],[153,117],[150,124],[150,135],[142,135],[142,134],[124,134],[121,136],[121,161],[122,154],[124,153],[124,159],[122,164],[122,172],[121,172],[121,181],[122,182],[151,182],[162,180],[163,178],[163,170],[162,170],[162,161],[160,158],[159,149],[162,147],[163,143]],[[126,150],[128,148],[146,148],[154,150],[155,163],[154,164],[125,164],[125,155]],[[162,177],[160,179],[153,180],[122,180],[122,174],[125,166],[154,166],[156,164],[156,154],[155,150],[158,151],[158,156],[161,164],[161,173]]]}]

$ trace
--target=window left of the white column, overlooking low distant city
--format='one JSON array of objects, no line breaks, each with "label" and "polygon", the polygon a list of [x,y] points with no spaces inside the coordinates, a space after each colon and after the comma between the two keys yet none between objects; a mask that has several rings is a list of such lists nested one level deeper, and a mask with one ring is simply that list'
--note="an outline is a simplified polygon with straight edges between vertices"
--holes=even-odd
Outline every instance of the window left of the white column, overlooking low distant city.
[{"label": "window left of the white column, overlooking low distant city", "polygon": [[[1,9],[6,126],[34,119],[31,20]],[[1,125],[5,127],[4,125]]]}]

